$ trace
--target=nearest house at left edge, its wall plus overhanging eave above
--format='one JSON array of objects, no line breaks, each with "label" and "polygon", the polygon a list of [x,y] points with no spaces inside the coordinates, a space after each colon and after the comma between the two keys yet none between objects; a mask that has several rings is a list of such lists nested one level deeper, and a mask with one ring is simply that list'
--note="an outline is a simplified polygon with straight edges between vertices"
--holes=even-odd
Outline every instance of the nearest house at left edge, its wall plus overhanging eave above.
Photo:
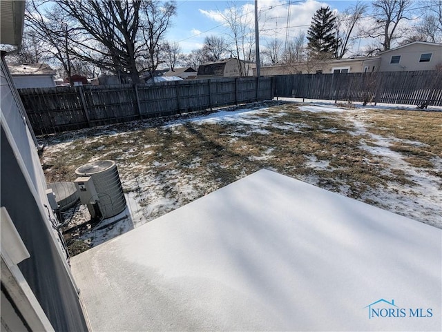
[{"label": "nearest house at left edge, its wall plus overhanging eave above", "polygon": [[[21,43],[25,1],[1,0],[1,44]],[[88,331],[19,92],[0,61],[1,331]]]}]

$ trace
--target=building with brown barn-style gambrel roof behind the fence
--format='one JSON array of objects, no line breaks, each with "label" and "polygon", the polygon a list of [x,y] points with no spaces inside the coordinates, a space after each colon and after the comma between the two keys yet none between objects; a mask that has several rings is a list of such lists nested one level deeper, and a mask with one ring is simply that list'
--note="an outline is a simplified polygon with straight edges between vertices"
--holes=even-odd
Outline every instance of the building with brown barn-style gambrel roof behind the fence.
[{"label": "building with brown barn-style gambrel roof behind the fence", "polygon": [[211,61],[198,67],[198,78],[252,76],[251,63],[236,58]]}]

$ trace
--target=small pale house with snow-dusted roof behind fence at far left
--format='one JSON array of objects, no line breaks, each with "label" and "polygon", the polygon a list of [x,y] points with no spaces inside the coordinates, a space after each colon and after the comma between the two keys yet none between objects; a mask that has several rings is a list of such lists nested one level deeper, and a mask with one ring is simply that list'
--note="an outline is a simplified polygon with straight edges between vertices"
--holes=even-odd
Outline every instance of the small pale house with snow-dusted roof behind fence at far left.
[{"label": "small pale house with snow-dusted roof behind fence at far left", "polygon": [[48,64],[8,64],[17,89],[52,88],[57,74]]}]

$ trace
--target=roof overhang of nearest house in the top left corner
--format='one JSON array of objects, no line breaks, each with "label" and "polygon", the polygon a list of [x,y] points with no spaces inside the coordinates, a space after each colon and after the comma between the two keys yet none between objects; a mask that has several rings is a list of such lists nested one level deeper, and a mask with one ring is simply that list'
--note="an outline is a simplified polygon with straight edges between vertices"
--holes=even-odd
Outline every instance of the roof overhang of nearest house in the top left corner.
[{"label": "roof overhang of nearest house in the top left corner", "polygon": [[24,14],[25,1],[0,1],[0,43],[21,44]]}]

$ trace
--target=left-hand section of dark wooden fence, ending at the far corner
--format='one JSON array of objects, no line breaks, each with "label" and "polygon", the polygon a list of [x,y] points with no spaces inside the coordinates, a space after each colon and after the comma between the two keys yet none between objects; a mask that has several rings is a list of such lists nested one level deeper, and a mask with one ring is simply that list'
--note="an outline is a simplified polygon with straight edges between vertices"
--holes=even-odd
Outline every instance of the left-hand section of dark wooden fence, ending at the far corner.
[{"label": "left-hand section of dark wooden fence, ending at the far corner", "polygon": [[271,77],[20,89],[36,135],[273,99]]}]

